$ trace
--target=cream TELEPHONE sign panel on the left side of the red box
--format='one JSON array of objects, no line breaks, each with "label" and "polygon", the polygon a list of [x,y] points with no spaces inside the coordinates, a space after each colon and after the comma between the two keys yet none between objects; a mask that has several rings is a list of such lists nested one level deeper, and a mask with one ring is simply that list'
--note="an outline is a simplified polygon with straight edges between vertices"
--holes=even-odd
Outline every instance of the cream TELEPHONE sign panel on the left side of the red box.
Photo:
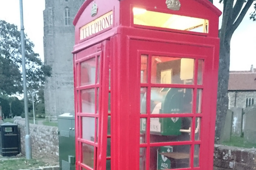
[{"label": "cream TELEPHONE sign panel on the left side of the red box", "polygon": [[110,11],[79,29],[80,40],[89,37],[97,32],[107,29],[113,25],[113,11]]}]

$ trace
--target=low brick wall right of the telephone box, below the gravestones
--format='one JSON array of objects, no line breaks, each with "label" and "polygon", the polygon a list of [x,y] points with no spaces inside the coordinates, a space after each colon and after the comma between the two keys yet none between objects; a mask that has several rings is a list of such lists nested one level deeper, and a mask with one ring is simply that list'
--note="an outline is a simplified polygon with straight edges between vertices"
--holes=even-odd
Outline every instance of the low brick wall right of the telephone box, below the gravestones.
[{"label": "low brick wall right of the telephone box, below the gravestones", "polygon": [[256,169],[256,149],[215,145],[214,170]]}]

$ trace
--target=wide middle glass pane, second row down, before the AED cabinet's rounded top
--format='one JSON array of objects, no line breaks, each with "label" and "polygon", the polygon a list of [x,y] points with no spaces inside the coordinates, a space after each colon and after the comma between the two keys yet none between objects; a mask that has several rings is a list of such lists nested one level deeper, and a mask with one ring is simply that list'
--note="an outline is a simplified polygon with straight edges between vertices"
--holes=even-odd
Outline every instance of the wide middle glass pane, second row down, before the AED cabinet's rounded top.
[{"label": "wide middle glass pane, second row down, before the AED cabinet's rounded top", "polygon": [[191,113],[193,89],[151,88],[151,114]]}]

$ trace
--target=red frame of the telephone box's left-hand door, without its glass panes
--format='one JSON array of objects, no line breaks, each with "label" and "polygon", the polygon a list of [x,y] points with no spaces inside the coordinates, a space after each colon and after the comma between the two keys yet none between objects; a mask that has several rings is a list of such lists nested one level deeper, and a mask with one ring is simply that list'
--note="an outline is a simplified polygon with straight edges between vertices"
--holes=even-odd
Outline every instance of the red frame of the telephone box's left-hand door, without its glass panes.
[{"label": "red frame of the telephone box's left-hand door, without its glass panes", "polygon": [[[104,52],[104,54],[102,54]],[[105,126],[108,126],[108,117],[105,117],[104,112],[108,112],[108,99],[102,98],[104,93],[108,93],[108,89],[106,89],[106,83],[109,82],[109,79],[106,79],[103,75],[106,74],[105,71],[109,71],[109,61],[107,59],[110,53],[110,45],[108,41],[104,41],[100,44],[92,46],[85,51],[82,51],[74,56],[74,82],[75,82],[75,110],[76,110],[76,149],[80,152],[76,152],[76,166],[93,170],[99,169],[99,165],[105,168],[105,160],[106,160],[106,141],[102,138],[102,136],[106,136],[106,130],[104,129]],[[105,57],[108,55],[108,57]],[[90,85],[80,85],[80,78],[82,75],[80,72],[80,63],[84,61],[88,61],[92,58],[95,58],[96,61],[96,75],[95,75],[95,82],[94,84]],[[99,60],[98,60],[99,58]],[[100,61],[100,63],[98,63]],[[98,68],[99,66],[99,68]],[[99,74],[98,74],[98,71]],[[98,78],[99,76],[99,78]],[[98,82],[99,80],[99,82]],[[95,89],[95,110],[94,113],[82,113],[81,111],[81,90],[84,89]],[[97,101],[98,97],[98,101]],[[98,108],[97,108],[98,107]],[[97,113],[98,109],[98,113]],[[95,117],[95,139],[94,141],[89,141],[86,139],[82,139],[82,124],[81,119],[82,117]],[[105,122],[106,120],[106,122]],[[98,126],[97,126],[98,125]],[[90,144],[94,146],[94,168],[82,163],[82,143]],[[102,158],[102,159],[101,159]]]}]

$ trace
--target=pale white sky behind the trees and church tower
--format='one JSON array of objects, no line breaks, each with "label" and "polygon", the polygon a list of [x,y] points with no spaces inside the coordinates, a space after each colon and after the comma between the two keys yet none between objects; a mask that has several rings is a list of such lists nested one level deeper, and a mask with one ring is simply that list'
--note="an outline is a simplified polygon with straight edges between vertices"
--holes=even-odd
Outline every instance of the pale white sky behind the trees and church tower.
[{"label": "pale white sky behind the trees and church tower", "polygon": [[[220,10],[222,5],[218,4]],[[42,12],[45,0],[23,0],[25,33],[35,44],[34,51],[44,61],[44,19]],[[231,39],[230,70],[249,70],[251,64],[256,68],[256,21],[249,19],[251,7]],[[20,29],[19,0],[0,0],[0,19],[14,23]],[[220,26],[221,26],[220,17]]]}]

